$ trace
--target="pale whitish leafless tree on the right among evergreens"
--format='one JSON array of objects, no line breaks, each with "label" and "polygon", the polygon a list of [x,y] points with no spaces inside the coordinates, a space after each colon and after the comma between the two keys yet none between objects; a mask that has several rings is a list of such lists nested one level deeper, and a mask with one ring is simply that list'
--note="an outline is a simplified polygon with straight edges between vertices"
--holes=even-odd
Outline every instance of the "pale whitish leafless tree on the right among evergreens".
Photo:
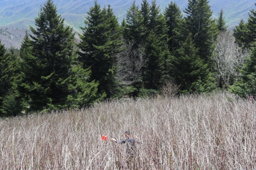
[{"label": "pale whitish leafless tree on the right among evergreens", "polygon": [[219,33],[212,58],[216,67],[215,79],[220,88],[227,88],[235,78],[239,78],[237,67],[244,64],[246,57],[250,57],[249,50],[239,48],[229,31]]}]

